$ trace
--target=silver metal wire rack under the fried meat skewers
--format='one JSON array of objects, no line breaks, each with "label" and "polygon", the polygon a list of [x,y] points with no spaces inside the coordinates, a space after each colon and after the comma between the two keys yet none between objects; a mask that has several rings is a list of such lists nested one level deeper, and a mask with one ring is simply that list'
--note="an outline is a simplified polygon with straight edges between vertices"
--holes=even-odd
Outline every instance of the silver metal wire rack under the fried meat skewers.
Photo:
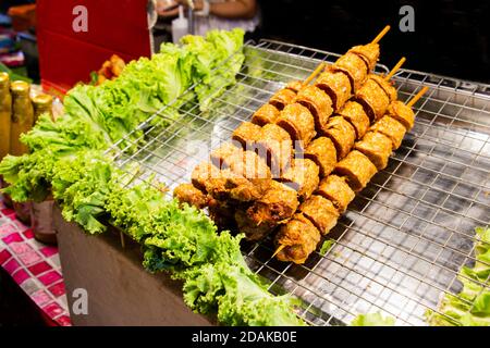
[{"label": "silver metal wire rack under the fried meat skewers", "polygon": [[[172,191],[284,83],[339,57],[271,40],[247,44],[244,51],[236,84],[213,97],[212,109],[201,111],[182,96],[181,117],[168,119],[172,103],[140,124],[140,137],[115,151],[119,166],[137,162],[138,181],[151,175]],[[310,324],[343,325],[379,311],[397,325],[425,325],[426,310],[438,312],[441,296],[461,290],[458,270],[475,262],[474,228],[489,225],[490,86],[408,70],[394,82],[401,100],[422,85],[430,89],[388,167],[328,236],[333,246],[303,265],[271,259],[271,240],[243,247],[271,293],[303,300],[298,313]]]}]

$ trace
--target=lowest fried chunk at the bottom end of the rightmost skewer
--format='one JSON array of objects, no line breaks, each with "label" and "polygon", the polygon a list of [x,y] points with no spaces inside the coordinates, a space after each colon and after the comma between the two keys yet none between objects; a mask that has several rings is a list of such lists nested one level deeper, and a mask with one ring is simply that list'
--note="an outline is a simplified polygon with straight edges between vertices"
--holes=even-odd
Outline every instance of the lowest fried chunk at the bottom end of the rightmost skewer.
[{"label": "lowest fried chunk at the bottom end of the rightmost skewer", "polygon": [[277,258],[280,261],[305,263],[317,248],[320,238],[320,232],[308,219],[302,213],[295,214],[293,220],[283,225],[275,236],[275,244],[285,246],[278,252]]}]

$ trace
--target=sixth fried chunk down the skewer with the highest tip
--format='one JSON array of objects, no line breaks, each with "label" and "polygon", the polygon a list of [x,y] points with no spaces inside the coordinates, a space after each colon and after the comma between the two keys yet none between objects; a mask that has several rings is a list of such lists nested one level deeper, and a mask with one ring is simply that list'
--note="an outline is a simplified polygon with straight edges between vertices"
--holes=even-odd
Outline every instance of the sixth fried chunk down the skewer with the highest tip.
[{"label": "sixth fried chunk down the skewer with the highest tip", "polygon": [[293,156],[293,140],[287,132],[277,124],[266,124],[256,144],[258,154],[266,159],[273,176],[283,173]]}]

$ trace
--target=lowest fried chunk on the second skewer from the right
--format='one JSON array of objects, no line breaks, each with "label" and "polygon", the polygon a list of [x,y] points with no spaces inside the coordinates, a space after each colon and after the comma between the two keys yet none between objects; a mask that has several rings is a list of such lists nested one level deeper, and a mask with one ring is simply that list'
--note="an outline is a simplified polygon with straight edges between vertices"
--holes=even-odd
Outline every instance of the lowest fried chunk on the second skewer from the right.
[{"label": "lowest fried chunk on the second skewer from the right", "polygon": [[269,190],[248,208],[248,217],[258,226],[275,226],[293,216],[299,201],[296,190],[272,181]]}]

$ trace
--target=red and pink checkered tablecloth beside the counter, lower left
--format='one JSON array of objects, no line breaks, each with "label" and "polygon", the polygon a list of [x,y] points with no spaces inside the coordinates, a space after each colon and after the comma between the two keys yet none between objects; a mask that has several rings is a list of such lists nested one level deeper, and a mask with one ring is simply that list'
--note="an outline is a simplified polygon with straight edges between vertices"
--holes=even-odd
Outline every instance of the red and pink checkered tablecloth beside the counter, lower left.
[{"label": "red and pink checkered tablecloth beside the counter, lower left", "polygon": [[58,248],[34,239],[1,199],[0,265],[49,319],[71,325]]}]

